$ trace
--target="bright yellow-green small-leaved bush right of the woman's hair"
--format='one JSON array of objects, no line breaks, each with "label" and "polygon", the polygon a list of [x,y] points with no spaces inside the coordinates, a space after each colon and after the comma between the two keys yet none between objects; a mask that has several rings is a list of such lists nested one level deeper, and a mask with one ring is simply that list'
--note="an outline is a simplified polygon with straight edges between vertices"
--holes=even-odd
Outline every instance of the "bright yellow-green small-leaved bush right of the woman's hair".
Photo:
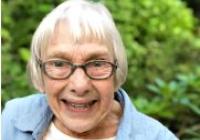
[{"label": "bright yellow-green small-leaved bush right of the woman's hair", "polygon": [[193,35],[195,19],[181,1],[105,2],[127,48],[129,76],[125,87],[130,91],[134,87],[134,94],[158,74],[171,80],[177,72],[188,73],[200,62],[199,39]]}]

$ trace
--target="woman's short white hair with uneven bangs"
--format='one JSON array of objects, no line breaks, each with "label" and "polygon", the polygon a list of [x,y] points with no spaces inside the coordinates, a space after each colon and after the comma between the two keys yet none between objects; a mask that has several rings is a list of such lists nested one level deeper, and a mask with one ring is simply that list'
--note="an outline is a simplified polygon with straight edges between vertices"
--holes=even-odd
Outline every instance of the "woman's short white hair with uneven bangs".
[{"label": "woman's short white hair with uneven bangs", "polygon": [[118,68],[115,86],[118,89],[126,80],[127,57],[124,45],[110,12],[101,3],[86,0],[68,0],[61,3],[43,18],[36,29],[31,44],[31,58],[28,65],[34,87],[42,90],[42,70],[38,61],[45,54],[50,37],[59,21],[66,20],[70,37],[75,42],[92,38],[104,42],[114,51]]}]

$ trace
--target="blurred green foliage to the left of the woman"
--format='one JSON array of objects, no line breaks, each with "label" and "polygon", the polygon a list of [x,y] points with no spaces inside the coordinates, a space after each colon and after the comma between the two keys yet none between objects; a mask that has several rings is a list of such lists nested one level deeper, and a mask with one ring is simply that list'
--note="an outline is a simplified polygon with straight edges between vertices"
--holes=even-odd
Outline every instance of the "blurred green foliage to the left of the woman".
[{"label": "blurred green foliage to the left of the woman", "polygon": [[37,24],[53,8],[50,3],[2,1],[2,106],[11,98],[34,92],[26,73],[29,46]]}]

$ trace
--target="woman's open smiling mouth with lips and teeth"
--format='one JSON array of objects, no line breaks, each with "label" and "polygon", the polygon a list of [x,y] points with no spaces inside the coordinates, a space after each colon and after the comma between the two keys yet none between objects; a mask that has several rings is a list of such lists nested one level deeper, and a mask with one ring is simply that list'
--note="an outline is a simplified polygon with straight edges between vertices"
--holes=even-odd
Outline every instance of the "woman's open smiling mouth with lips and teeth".
[{"label": "woman's open smiling mouth with lips and teeth", "polygon": [[70,102],[65,99],[61,99],[61,101],[65,104],[67,109],[73,112],[86,112],[89,111],[94,104],[97,102],[97,100],[93,100],[87,103],[75,103],[75,102]]}]

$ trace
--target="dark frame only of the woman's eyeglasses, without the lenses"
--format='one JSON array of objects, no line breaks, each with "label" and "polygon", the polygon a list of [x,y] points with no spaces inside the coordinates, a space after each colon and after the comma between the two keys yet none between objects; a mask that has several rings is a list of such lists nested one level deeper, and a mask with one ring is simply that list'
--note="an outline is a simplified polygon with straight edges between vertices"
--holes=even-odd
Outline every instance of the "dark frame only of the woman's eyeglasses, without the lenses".
[{"label": "dark frame only of the woman's eyeglasses, without the lenses", "polygon": [[[66,76],[66,77],[63,77],[63,78],[55,78],[55,77],[52,77],[51,75],[48,74],[48,72],[46,71],[46,68],[45,68],[45,64],[48,63],[48,62],[51,62],[51,61],[55,61],[57,59],[51,59],[51,60],[47,60],[45,62],[42,62],[41,60],[38,61],[39,63],[39,66],[41,68],[41,70],[51,79],[54,79],[54,80],[65,80],[67,78],[69,78],[73,73],[74,71],[77,69],[77,68],[81,68],[83,69],[83,71],[85,72],[85,74],[92,80],[105,80],[105,79],[108,79],[110,78],[114,72],[116,71],[116,69],[118,68],[118,64],[117,64],[117,60],[114,60],[114,63],[110,62],[110,61],[106,61],[106,60],[93,60],[93,61],[88,61],[84,64],[73,64],[69,61],[66,61],[66,60],[59,60],[59,61],[62,61],[62,62],[65,62],[67,64],[69,64],[71,66],[71,72]],[[112,66],[112,70],[110,72],[110,75],[106,76],[105,78],[94,78],[94,77],[91,77],[88,73],[87,73],[87,70],[86,70],[86,67],[93,63],[93,62],[106,62],[108,63],[109,65]]]}]

